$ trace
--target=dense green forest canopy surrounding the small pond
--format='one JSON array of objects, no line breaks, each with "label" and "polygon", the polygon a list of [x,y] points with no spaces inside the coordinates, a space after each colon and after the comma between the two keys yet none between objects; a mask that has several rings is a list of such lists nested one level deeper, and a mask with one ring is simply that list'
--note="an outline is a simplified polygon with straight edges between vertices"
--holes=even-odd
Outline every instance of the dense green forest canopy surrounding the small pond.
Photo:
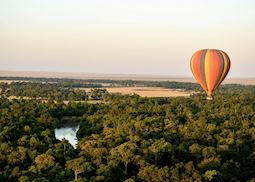
[{"label": "dense green forest canopy surrounding the small pond", "polygon": [[[0,181],[255,180],[255,86],[223,85],[213,101],[202,92],[189,98],[99,92],[102,102],[92,104],[86,92],[75,95],[73,82],[34,81],[0,84]],[[78,117],[76,149],[55,138],[66,116]]]}]

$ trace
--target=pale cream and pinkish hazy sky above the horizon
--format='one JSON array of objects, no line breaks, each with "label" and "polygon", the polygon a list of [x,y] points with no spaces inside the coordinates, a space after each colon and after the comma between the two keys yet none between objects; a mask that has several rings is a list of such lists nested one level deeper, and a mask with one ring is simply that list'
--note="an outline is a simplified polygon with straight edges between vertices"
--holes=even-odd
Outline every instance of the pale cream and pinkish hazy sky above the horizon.
[{"label": "pale cream and pinkish hazy sky above the horizon", "polygon": [[255,1],[0,0],[0,70],[189,77],[204,48],[255,77]]}]

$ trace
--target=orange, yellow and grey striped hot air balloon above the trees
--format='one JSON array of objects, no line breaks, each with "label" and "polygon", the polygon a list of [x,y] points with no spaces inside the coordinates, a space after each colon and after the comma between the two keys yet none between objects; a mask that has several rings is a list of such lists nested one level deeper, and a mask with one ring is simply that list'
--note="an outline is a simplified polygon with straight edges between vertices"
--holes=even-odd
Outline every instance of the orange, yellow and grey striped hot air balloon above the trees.
[{"label": "orange, yellow and grey striped hot air balloon above the trees", "polygon": [[207,99],[212,100],[213,92],[220,86],[230,69],[228,55],[216,49],[195,52],[190,61],[191,71],[205,90]]}]

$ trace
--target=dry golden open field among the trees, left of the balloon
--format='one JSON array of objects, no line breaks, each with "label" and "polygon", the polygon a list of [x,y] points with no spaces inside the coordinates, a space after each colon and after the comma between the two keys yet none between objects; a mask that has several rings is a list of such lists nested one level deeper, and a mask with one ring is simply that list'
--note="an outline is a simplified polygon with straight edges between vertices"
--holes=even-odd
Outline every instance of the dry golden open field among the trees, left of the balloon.
[{"label": "dry golden open field among the trees, left of the balloon", "polygon": [[[108,87],[104,88],[109,93],[138,94],[141,97],[189,97],[194,92],[181,89],[166,89],[160,87]],[[91,88],[82,88],[89,92]]]}]

